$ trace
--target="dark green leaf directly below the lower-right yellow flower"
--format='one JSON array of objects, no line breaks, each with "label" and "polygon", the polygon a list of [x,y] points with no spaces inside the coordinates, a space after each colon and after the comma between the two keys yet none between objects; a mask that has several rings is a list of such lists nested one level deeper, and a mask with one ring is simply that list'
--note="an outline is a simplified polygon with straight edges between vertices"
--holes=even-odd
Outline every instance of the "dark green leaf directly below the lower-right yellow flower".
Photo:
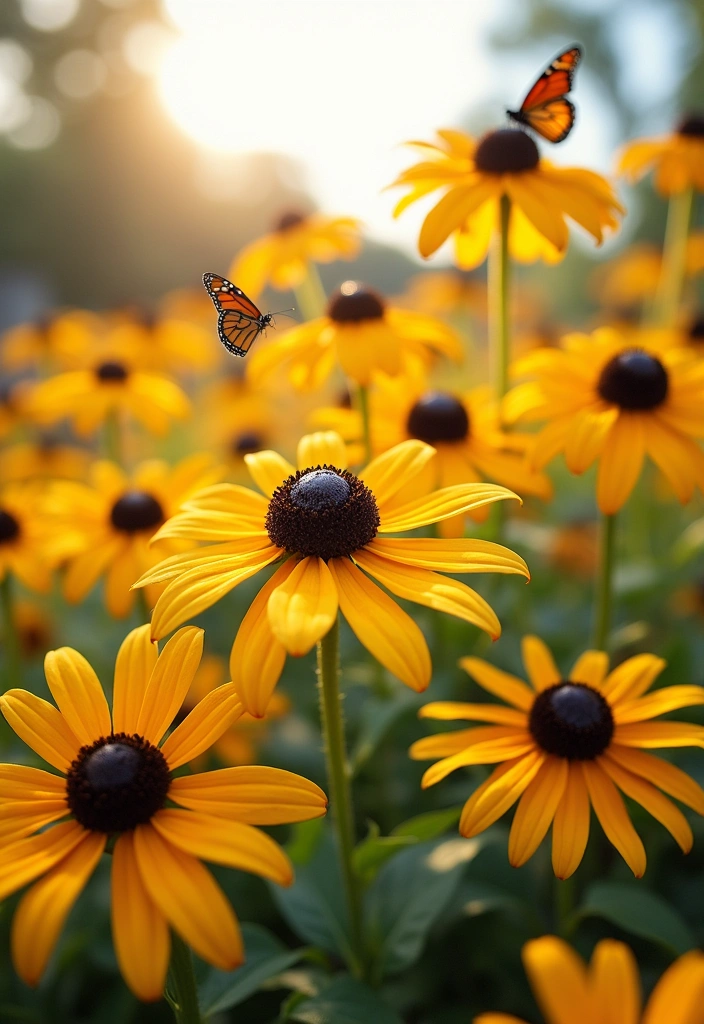
[{"label": "dark green leaf directly below the lower-right yellow flower", "polygon": [[624,932],[650,939],[680,955],[697,941],[689,925],[661,896],[642,885],[597,882],[589,886],[577,918],[605,918]]}]

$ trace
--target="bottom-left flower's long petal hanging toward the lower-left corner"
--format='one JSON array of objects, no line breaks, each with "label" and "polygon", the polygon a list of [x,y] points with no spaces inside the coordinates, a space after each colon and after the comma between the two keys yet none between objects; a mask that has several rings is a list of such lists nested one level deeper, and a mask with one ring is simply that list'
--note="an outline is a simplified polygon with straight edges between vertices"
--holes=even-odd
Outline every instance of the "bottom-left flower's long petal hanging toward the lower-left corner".
[{"label": "bottom-left flower's long petal hanging toward the lower-left corner", "polygon": [[12,919],[12,963],[26,985],[44,973],[69,911],[93,873],[106,836],[84,833],[80,843],[36,882],[19,901]]}]

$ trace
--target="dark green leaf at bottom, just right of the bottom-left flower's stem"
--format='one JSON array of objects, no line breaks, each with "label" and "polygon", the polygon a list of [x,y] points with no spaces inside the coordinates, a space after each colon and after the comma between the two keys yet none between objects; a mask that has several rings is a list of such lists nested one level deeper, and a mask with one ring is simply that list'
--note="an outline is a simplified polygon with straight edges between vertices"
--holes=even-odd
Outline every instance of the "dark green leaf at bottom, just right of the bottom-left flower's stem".
[{"label": "dark green leaf at bottom, just right of the bottom-left flower's stem", "polygon": [[306,955],[305,949],[287,949],[282,942],[259,925],[243,925],[247,961],[236,971],[212,969],[200,990],[204,1014],[236,1007],[282,971]]}]

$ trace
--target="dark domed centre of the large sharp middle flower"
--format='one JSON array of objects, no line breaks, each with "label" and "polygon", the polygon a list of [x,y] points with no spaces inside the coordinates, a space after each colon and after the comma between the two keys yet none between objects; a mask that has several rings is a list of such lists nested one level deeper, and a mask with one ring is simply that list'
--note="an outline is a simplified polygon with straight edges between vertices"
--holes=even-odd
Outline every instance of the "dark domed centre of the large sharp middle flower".
[{"label": "dark domed centre of the large sharp middle flower", "polygon": [[266,514],[272,544],[291,554],[345,558],[373,540],[379,509],[353,473],[333,466],[299,471],[274,490]]}]

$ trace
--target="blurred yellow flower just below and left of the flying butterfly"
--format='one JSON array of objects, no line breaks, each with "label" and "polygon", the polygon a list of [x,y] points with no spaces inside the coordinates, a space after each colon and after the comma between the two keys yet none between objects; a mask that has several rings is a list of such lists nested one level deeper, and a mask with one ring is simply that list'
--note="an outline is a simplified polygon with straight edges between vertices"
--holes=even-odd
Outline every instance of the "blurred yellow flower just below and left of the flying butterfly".
[{"label": "blurred yellow flower just below and left of the flying butterfly", "polygon": [[28,406],[38,422],[69,419],[83,437],[113,414],[132,416],[151,433],[165,434],[172,420],[185,419],[190,412],[174,381],[117,358],[43,381],[33,388]]}]

